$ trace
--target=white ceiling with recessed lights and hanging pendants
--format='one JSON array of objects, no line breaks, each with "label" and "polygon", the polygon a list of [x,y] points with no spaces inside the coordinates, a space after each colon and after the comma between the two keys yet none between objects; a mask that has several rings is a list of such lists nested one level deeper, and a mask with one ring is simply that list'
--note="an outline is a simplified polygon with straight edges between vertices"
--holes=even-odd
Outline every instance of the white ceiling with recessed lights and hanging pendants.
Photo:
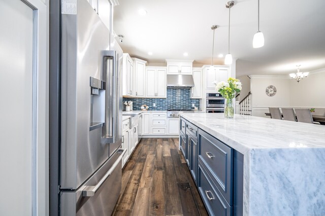
[{"label": "white ceiling with recessed lights and hanging pendants", "polygon": [[[214,64],[228,53],[229,9],[220,0],[119,0],[114,8],[114,31],[124,35],[124,53],[154,63],[193,59],[211,64],[211,26],[215,30]],[[313,3],[313,4],[311,4]],[[147,11],[146,16],[138,13]],[[257,31],[257,0],[235,1],[231,8],[230,52],[236,76],[287,75],[325,68],[325,1],[261,0],[260,27],[265,46],[252,48]],[[148,52],[152,55],[148,55]],[[188,56],[183,56],[187,52]]]}]

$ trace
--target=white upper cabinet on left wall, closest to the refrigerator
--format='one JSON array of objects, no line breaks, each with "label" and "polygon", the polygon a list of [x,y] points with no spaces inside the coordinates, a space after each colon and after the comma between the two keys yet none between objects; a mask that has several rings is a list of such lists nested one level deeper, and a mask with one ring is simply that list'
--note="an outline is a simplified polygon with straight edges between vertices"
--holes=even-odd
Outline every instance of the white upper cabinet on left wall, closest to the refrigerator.
[{"label": "white upper cabinet on left wall, closest to the refrigerator", "polygon": [[132,58],[127,53],[123,53],[123,96],[135,96],[135,92],[133,91],[133,67],[134,62]]}]

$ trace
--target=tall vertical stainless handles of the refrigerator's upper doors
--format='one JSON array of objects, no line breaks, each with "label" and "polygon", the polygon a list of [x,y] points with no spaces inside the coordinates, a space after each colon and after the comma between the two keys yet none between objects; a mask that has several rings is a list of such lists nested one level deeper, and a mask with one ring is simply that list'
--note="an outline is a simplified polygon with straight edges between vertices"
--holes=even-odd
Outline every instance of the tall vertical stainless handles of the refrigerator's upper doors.
[{"label": "tall vertical stainless handles of the refrigerator's upper doors", "polygon": [[[114,50],[103,50],[103,72],[106,80],[106,102],[105,102],[105,127],[104,136],[107,143],[114,143],[118,140],[118,89],[117,89],[117,71],[118,56]],[[112,59],[113,65],[107,68],[106,59]]]}]

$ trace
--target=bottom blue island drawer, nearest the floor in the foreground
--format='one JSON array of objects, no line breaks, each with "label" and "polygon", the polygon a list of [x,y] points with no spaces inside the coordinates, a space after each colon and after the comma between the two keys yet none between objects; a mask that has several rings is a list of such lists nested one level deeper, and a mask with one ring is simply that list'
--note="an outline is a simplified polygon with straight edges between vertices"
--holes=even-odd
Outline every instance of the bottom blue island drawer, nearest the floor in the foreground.
[{"label": "bottom blue island drawer, nearest the floor in the foreground", "polygon": [[233,207],[226,202],[220,191],[213,186],[210,176],[199,162],[198,188],[209,215],[233,215]]}]

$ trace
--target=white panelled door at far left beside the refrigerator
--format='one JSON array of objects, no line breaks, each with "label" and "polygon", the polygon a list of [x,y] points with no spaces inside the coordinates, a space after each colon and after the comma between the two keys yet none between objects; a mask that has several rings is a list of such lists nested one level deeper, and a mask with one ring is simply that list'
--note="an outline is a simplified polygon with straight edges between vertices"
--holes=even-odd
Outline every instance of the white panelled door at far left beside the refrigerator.
[{"label": "white panelled door at far left beside the refrigerator", "polygon": [[47,6],[0,6],[1,215],[46,215],[48,200]]}]

